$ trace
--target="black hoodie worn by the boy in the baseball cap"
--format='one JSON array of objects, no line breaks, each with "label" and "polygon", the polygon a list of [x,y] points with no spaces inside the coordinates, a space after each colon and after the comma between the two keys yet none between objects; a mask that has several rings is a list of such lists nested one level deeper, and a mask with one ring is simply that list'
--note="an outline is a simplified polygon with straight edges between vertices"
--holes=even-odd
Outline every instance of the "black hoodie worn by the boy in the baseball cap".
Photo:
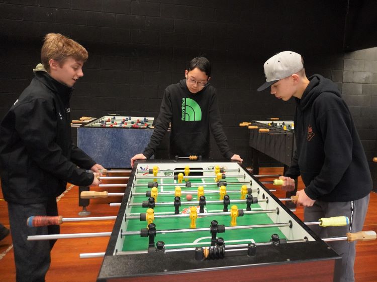
[{"label": "black hoodie worn by the boy in the baseball cap", "polygon": [[351,113],[335,83],[318,74],[309,80],[301,100],[296,98],[297,151],[286,176],[301,175],[313,200],[363,198],[372,180]]}]

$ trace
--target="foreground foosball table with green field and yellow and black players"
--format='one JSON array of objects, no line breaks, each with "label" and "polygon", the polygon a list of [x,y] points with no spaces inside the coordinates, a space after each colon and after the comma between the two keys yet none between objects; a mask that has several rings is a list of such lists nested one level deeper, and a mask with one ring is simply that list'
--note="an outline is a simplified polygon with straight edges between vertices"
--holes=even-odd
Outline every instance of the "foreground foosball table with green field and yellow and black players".
[{"label": "foreground foosball table with green field and yellow and black players", "polygon": [[132,170],[98,281],[332,281],[339,261],[238,163],[146,160]]}]

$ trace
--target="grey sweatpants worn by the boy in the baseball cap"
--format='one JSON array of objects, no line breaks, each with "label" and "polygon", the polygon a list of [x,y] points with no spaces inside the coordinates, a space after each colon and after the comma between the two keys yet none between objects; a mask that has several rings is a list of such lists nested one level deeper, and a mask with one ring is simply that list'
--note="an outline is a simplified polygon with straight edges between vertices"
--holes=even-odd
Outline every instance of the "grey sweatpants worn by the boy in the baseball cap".
[{"label": "grey sweatpants worn by the boy in the baseball cap", "polygon": [[[309,225],[319,237],[345,236],[347,232],[358,232],[364,225],[366,211],[369,204],[369,194],[364,198],[349,202],[316,201],[312,207],[305,207],[304,220],[318,221],[322,217],[347,216],[349,226]],[[328,242],[329,246],[342,257],[341,267],[335,267],[334,281],[354,281],[353,264],[356,255],[356,242],[346,240]]]}]

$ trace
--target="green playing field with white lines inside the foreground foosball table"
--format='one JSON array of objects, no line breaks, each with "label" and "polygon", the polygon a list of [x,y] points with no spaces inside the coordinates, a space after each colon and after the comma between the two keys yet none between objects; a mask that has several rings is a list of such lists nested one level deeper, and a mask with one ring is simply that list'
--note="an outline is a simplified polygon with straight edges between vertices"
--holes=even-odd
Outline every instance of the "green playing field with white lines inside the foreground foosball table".
[{"label": "green playing field with white lines inside the foreground foosball table", "polygon": [[[214,183],[214,178],[201,178],[198,176],[197,179],[190,179],[190,181],[195,183]],[[229,182],[239,182],[237,178],[226,178]],[[136,187],[134,192],[143,192],[150,191],[150,188],[147,188],[147,183],[152,182],[151,179],[137,179],[135,183],[144,184],[145,187]],[[174,186],[163,186],[163,184],[176,183],[173,179],[159,179],[157,177],[157,182],[159,183],[158,193],[174,191]],[[204,185],[205,186],[205,185]],[[228,209],[230,211],[232,200],[241,199],[241,186],[242,184],[234,184],[226,187],[227,191],[237,190],[237,193],[227,193],[230,197],[230,205]],[[217,185],[207,185],[204,187],[206,190],[219,190]],[[179,218],[155,218],[153,223],[156,224],[156,230],[168,230],[168,229],[190,229],[190,207],[196,206],[198,211],[198,218],[196,220],[196,228],[209,228],[212,220],[217,220],[219,224],[224,224],[226,227],[231,226],[231,217],[230,215],[216,215],[216,216],[203,216],[199,213],[199,200],[197,197],[198,187],[186,188],[182,187],[182,191],[193,191],[192,204],[190,205],[181,205],[179,210],[181,214],[187,214],[187,217]],[[219,193],[206,194],[206,201],[215,201],[220,200]],[[257,193],[253,193],[253,197],[261,198],[260,195],[257,196]],[[134,195],[130,196],[130,203],[140,203],[140,206],[132,206],[129,215],[139,215],[140,213],[145,213],[147,208],[141,206],[142,201],[146,201],[147,197],[145,195],[139,196]],[[186,201],[186,195],[181,195],[181,201]],[[174,194],[172,195],[158,195],[156,203],[160,202],[171,202],[171,206],[156,206],[154,208],[154,215],[159,214],[174,214]],[[246,209],[246,200],[245,203],[238,203],[238,209]],[[261,210],[261,207],[258,204],[252,204],[251,210]],[[222,212],[222,204],[207,204],[205,206],[205,212]],[[146,221],[140,221],[140,219],[128,219],[127,220],[127,230],[123,231],[140,231],[142,228],[147,228]],[[274,223],[265,213],[260,214],[245,214],[243,217],[237,217],[237,226],[241,225],[254,225],[254,224],[270,224]],[[217,237],[222,237],[225,239],[227,245],[230,244],[246,244],[251,242],[268,242],[271,239],[272,234],[278,234],[280,238],[286,238],[285,235],[277,227],[269,228],[253,228],[253,229],[237,229],[237,230],[225,230],[224,233],[218,233]],[[146,250],[148,248],[148,237],[140,237],[140,235],[126,235],[124,238],[123,251],[135,251],[135,250]],[[157,234],[155,237],[155,242],[163,241],[165,243],[165,248],[185,248],[185,247],[196,247],[196,246],[210,246],[211,233],[210,231],[194,231],[194,232],[178,232],[178,233],[162,233]]]}]

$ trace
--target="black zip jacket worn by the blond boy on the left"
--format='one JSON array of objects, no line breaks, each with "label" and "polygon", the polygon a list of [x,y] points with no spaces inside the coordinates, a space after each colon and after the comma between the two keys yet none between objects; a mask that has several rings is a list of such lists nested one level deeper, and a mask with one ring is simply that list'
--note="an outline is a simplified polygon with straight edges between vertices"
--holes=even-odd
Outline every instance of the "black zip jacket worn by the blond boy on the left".
[{"label": "black zip jacket worn by the blond boy on the left", "polygon": [[38,71],[6,114],[0,124],[0,176],[6,201],[40,203],[60,195],[67,181],[92,183],[93,174],[84,169],[96,163],[71,140],[72,91]]}]

